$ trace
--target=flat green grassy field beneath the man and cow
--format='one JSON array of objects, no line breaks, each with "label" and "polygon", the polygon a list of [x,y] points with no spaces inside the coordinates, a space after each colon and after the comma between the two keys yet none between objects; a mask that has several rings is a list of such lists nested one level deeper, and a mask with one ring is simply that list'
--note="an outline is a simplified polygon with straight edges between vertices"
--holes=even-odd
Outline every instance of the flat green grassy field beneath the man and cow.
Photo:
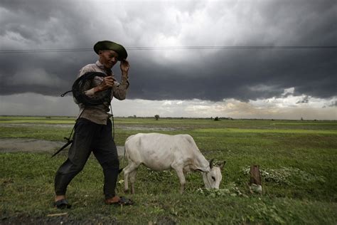
[{"label": "flat green grassy field beneath the man and cow", "polygon": [[[0,117],[1,138],[62,141],[73,117]],[[0,152],[0,224],[337,224],[337,122],[115,118],[115,142],[138,132],[191,135],[203,155],[226,160],[219,190],[203,189],[199,172],[178,194],[174,171],[140,167],[133,206],[103,203],[102,170],[94,157],[68,187],[72,209],[52,206],[53,179],[66,152]],[[121,157],[121,166],[126,160]],[[249,189],[259,164],[263,194]]]}]

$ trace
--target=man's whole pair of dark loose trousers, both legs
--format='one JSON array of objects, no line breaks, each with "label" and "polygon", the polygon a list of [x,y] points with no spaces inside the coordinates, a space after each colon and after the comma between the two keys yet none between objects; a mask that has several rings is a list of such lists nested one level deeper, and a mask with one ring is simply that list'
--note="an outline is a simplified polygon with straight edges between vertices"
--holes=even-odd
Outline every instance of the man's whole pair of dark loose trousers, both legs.
[{"label": "man's whole pair of dark loose trousers, both legs", "polygon": [[68,159],[56,172],[56,195],[65,195],[68,184],[82,171],[91,152],[103,168],[105,199],[115,196],[119,159],[116,144],[112,139],[111,121],[107,120],[107,125],[99,125],[85,118],[77,120]]}]

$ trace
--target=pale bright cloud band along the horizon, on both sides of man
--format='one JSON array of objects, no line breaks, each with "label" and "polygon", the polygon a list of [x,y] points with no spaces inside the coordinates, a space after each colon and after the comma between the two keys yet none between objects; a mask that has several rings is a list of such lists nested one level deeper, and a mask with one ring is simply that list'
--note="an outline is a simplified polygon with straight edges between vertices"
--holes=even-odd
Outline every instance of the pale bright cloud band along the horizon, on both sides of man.
[{"label": "pale bright cloud band along the horizon, on both sides of man", "polygon": [[[308,104],[294,102],[298,97],[270,98],[249,103],[228,99],[207,100],[112,100],[114,116],[151,117],[233,117],[258,119],[337,120],[337,97],[329,100],[311,98]],[[26,93],[0,96],[0,115],[68,115],[76,116],[77,105],[71,96],[64,98]],[[330,105],[330,106],[329,106]],[[325,107],[324,107],[325,106]]]}]

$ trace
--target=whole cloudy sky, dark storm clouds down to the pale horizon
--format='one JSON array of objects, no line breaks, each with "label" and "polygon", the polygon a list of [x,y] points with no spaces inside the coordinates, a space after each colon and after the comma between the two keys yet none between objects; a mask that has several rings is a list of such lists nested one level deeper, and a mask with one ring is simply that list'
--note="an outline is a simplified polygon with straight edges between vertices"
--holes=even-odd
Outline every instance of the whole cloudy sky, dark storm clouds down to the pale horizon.
[{"label": "whole cloudy sky, dark storm clouds down to the pale horizon", "polygon": [[1,0],[0,115],[77,115],[101,40],[131,64],[114,115],[337,120],[335,0]]}]

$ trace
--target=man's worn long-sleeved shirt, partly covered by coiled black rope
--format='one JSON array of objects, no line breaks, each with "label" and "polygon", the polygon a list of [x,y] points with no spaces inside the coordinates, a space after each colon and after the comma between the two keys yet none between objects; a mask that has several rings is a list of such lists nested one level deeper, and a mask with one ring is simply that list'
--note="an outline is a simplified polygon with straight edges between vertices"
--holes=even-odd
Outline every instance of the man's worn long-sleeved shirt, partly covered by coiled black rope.
[{"label": "man's worn long-sleeved shirt, partly covered by coiled black rope", "polygon": [[[107,74],[105,67],[102,65],[102,63],[100,63],[100,61],[84,66],[82,69],[80,69],[80,73],[77,75],[77,78],[79,78],[81,75],[84,75],[87,72],[100,72]],[[112,78],[114,78],[113,73]],[[102,81],[103,81],[102,77],[96,76],[92,80],[90,87],[88,87],[90,89],[85,91],[85,95],[91,98],[95,97],[95,95],[100,95],[100,92],[97,93],[94,92],[94,88],[95,86],[100,85]],[[127,96],[128,87],[129,87],[129,80],[127,80],[126,76],[122,75],[120,83],[114,78],[111,100],[113,97],[117,98],[118,100],[124,100]],[[77,103],[76,100],[75,103]],[[107,119],[111,117],[111,114],[108,113],[110,105],[109,102],[102,103],[101,105],[92,105],[92,106],[83,105],[82,103],[77,103],[77,105],[80,107],[80,113],[78,117],[85,118],[97,124],[106,125]]]}]

